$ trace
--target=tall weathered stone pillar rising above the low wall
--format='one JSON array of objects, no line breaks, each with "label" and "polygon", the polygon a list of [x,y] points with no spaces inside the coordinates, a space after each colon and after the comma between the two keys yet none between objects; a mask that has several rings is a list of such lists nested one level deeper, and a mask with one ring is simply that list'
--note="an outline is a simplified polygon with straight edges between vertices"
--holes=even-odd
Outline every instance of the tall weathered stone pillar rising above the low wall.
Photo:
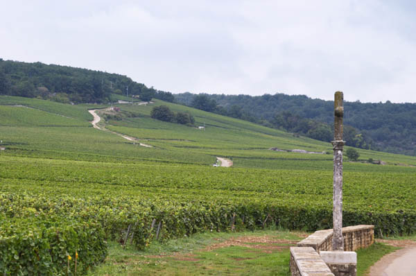
[{"label": "tall weathered stone pillar rising above the low wall", "polygon": [[344,251],[343,239],[343,92],[335,93],[333,102],[334,128],[333,128],[333,236],[332,250]]}]

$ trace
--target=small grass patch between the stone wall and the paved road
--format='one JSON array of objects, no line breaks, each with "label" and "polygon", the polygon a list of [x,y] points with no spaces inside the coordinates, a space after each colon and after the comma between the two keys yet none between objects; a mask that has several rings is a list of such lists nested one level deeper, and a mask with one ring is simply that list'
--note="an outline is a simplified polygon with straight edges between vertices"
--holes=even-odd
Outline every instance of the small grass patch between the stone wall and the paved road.
[{"label": "small grass patch between the stone wall and the paved road", "polygon": [[381,257],[399,248],[383,243],[374,243],[368,248],[357,250],[357,276],[366,276],[370,272],[370,267]]}]

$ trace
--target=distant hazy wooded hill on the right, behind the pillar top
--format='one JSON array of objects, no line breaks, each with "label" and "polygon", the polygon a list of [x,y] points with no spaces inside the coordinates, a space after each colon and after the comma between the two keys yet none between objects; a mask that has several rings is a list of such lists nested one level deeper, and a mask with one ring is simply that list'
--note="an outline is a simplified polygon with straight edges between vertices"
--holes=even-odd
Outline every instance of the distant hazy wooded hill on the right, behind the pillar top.
[{"label": "distant hazy wooded hill on the right, behind the pillar top", "polygon": [[[201,98],[209,104],[202,105]],[[333,101],[303,95],[175,94],[175,101],[231,117],[331,139]],[[416,103],[345,102],[345,140],[350,146],[416,155]]]}]

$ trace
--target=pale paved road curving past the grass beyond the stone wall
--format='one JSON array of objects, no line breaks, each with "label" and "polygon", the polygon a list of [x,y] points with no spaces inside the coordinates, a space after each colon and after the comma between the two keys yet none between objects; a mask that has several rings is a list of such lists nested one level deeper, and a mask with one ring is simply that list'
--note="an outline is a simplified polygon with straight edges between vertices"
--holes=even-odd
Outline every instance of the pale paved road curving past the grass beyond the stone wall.
[{"label": "pale paved road curving past the grass beyond the stone wall", "polygon": [[385,255],[371,267],[370,276],[416,275],[416,242],[399,246],[404,248]]}]

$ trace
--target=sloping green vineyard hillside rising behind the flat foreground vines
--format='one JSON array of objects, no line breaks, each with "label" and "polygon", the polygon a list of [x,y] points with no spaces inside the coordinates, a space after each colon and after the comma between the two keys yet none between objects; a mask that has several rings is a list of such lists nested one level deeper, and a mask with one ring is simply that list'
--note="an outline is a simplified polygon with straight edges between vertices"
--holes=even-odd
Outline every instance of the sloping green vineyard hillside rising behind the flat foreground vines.
[{"label": "sloping green vineyard hillside rising behind the flat foreground vines", "polygon": [[[128,141],[112,135],[108,131],[97,132],[88,121],[92,115],[89,108],[103,108],[105,105],[67,105],[38,99],[0,96],[0,114],[3,119],[3,145],[10,147],[6,153],[17,152],[53,157],[52,152],[76,155],[78,159],[97,160],[118,156],[123,159],[151,159],[163,162],[189,164],[212,164],[216,156],[232,157],[234,166],[272,168],[288,166],[289,160],[306,162],[314,160],[313,166],[320,169],[331,168],[331,144],[306,137],[295,137],[287,132],[275,130],[255,123],[224,117],[191,107],[155,100],[150,105],[114,105],[120,112],[104,112],[107,130],[136,137],[139,141],[153,146],[152,149],[131,148]],[[22,106],[23,105],[23,106]],[[150,118],[153,106],[166,105],[174,112],[189,112],[195,118],[195,126],[183,126]],[[30,107],[30,108],[28,108]],[[100,113],[98,111],[98,113]],[[199,130],[197,126],[205,126]],[[27,133],[31,132],[28,137]],[[48,132],[50,135],[44,135]],[[52,135],[53,134],[53,135]],[[27,138],[26,138],[27,137]],[[90,144],[85,137],[94,137]],[[114,144],[108,144],[112,143]],[[115,143],[115,141],[119,141]],[[56,145],[56,146],[54,146]],[[327,151],[329,155],[304,155],[302,153],[282,153],[269,148],[282,150]],[[361,159],[382,160],[388,164],[415,164],[415,158],[392,155],[374,150],[359,150]],[[310,167],[309,164],[306,167]],[[355,164],[351,164],[355,166]],[[346,166],[349,166],[347,164]]]}]

